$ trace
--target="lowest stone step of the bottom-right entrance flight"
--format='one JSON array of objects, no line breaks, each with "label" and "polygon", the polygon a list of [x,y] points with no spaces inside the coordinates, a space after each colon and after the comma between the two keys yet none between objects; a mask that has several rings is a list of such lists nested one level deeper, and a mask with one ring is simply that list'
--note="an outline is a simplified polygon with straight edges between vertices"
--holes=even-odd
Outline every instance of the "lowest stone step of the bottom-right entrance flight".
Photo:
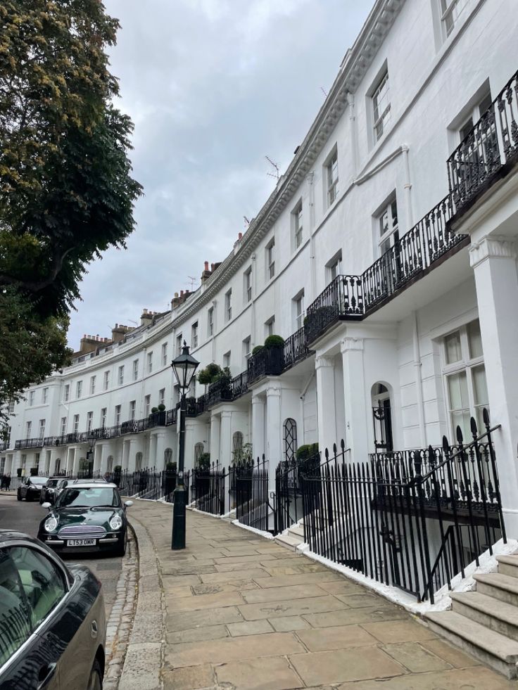
[{"label": "lowest stone step of the bottom-right entrance flight", "polygon": [[456,611],[425,614],[431,630],[472,654],[482,663],[512,679],[518,676],[518,642],[466,618]]}]

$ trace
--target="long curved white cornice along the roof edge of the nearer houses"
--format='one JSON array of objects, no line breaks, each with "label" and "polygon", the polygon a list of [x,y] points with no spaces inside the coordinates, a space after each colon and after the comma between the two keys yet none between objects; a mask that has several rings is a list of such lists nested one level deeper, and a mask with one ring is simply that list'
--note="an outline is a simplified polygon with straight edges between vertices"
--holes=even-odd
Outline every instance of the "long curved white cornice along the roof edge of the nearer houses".
[{"label": "long curved white cornice along the roof edge of the nearer houses", "polygon": [[[348,94],[358,88],[365,72],[391,29],[405,0],[377,0],[365,24],[340,65],[329,94],[313,121],[308,134],[291,160],[288,170],[277,182],[258,215],[244,234],[239,248],[235,248],[205,283],[206,288],[191,305],[173,318],[173,328],[180,326],[209,302],[239,268],[251,257],[260,241],[277,221],[293,198],[298,186],[310,174],[310,168],[321,153],[329,134],[348,106]],[[194,295],[193,295],[194,297]],[[190,300],[189,300],[190,301]]]}]

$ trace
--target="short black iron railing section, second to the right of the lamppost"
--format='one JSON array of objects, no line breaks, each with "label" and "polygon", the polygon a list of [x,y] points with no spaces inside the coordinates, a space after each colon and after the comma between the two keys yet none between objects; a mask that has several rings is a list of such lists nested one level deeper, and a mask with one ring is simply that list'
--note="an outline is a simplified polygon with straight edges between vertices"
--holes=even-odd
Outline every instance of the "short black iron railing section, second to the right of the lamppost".
[{"label": "short black iron railing section, second to the right of the lamppost", "polygon": [[268,463],[263,458],[234,467],[236,518],[243,525],[267,531],[272,512],[268,502]]}]

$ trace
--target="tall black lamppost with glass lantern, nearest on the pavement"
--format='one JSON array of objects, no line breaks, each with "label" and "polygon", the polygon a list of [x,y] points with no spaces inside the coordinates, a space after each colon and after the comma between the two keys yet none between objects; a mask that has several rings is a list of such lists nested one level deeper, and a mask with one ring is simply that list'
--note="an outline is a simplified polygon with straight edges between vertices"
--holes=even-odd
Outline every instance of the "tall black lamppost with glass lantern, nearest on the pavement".
[{"label": "tall black lamppost with glass lantern, nearest on the pavement", "polygon": [[199,362],[189,354],[189,347],[184,340],[182,354],[171,362],[172,371],[180,388],[180,437],[178,449],[178,480],[173,492],[172,504],[172,538],[171,549],[185,549],[185,487],[184,487],[184,454],[185,454],[185,396]]}]

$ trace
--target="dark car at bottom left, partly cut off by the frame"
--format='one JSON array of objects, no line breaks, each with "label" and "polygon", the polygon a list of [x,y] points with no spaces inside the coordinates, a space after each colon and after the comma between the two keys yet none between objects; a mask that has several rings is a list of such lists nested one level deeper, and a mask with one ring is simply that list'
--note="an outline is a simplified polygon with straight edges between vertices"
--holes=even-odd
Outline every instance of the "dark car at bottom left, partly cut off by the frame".
[{"label": "dark car at bottom left, partly cut off by the frame", "polygon": [[101,582],[37,539],[0,530],[0,690],[102,690]]}]

